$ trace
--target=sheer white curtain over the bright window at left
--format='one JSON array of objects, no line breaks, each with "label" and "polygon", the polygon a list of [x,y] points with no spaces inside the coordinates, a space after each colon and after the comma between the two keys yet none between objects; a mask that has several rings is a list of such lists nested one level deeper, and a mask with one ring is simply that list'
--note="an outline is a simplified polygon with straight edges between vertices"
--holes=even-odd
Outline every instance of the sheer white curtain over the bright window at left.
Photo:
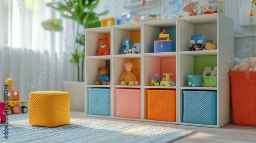
[{"label": "sheer white curtain over the bright window at left", "polygon": [[63,81],[77,79],[77,69],[66,52],[73,41],[73,35],[68,34],[73,33],[72,21],[62,19],[61,32],[41,27],[44,20],[61,19],[57,11],[46,7],[49,2],[54,1],[0,1],[0,93],[4,93],[8,77],[14,80],[12,88],[19,90],[19,99],[27,101],[29,92],[64,90]]}]

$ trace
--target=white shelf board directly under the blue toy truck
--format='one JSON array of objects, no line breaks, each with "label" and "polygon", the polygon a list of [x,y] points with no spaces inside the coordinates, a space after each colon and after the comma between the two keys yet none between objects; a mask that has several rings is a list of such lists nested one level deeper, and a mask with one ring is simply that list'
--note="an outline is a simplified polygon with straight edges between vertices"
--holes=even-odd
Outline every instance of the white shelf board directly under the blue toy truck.
[{"label": "white shelf board directly under the blue toy truck", "polygon": [[182,51],[180,54],[190,56],[213,56],[217,55],[218,50]]}]

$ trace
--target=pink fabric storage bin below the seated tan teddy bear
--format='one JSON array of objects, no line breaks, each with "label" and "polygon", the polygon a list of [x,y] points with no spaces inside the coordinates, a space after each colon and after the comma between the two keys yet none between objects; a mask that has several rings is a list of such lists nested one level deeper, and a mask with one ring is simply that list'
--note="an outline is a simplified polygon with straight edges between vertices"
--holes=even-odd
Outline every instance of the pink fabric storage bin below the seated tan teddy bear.
[{"label": "pink fabric storage bin below the seated tan teddy bear", "polygon": [[116,89],[116,116],[140,118],[140,89]]}]

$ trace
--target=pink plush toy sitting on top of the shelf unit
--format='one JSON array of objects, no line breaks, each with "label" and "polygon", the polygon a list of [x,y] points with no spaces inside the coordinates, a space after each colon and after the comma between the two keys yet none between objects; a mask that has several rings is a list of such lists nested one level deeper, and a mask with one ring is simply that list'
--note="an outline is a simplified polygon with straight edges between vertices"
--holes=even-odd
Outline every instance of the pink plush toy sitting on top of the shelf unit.
[{"label": "pink plush toy sitting on top of the shelf unit", "polygon": [[[195,5],[195,2],[192,3],[191,0],[186,0],[186,4],[183,6],[183,11],[186,12],[186,16],[197,15],[198,10]],[[182,17],[182,15],[177,15],[177,18],[178,17]]]}]

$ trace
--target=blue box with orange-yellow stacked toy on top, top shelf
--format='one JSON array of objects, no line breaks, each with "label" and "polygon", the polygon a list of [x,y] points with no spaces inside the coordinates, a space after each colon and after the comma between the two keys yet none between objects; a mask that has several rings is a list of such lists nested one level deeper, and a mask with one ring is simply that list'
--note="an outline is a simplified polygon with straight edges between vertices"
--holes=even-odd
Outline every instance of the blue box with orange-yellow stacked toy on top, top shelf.
[{"label": "blue box with orange-yellow stacked toy on top, top shelf", "polygon": [[165,29],[159,34],[159,39],[154,41],[154,53],[158,52],[173,52],[174,43],[173,40],[169,39],[169,34],[166,33]]}]

